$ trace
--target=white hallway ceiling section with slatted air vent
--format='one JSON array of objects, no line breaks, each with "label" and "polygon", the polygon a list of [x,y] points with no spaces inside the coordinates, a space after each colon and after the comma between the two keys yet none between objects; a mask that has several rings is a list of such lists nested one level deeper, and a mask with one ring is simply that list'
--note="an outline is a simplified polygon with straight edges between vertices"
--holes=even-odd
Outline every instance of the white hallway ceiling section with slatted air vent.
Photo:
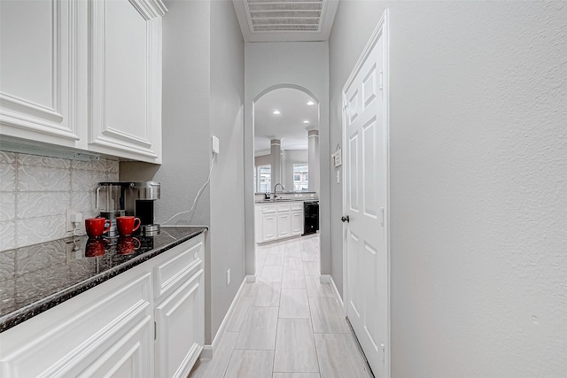
[{"label": "white hallway ceiling section with slatted air vent", "polygon": [[338,0],[232,0],[245,42],[327,41]]}]

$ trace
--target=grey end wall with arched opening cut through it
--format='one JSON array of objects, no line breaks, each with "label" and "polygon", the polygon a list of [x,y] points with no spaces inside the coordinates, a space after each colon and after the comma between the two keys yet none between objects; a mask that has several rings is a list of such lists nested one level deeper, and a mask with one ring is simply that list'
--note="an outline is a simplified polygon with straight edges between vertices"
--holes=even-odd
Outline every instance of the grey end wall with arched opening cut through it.
[{"label": "grey end wall with arched opening cut through it", "polygon": [[254,189],[252,102],[282,84],[301,86],[317,97],[321,156],[321,267],[330,274],[329,236],[329,44],[327,42],[245,43],[245,249],[246,274],[254,274]]}]

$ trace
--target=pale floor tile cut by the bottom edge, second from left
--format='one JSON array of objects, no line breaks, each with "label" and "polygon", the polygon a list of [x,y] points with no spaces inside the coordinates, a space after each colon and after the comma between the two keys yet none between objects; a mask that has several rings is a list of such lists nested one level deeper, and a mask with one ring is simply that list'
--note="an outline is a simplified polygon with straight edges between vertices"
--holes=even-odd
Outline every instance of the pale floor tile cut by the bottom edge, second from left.
[{"label": "pale floor tile cut by the bottom edge, second from left", "polygon": [[[224,378],[264,378],[272,374],[274,351],[232,352]],[[218,377],[217,377],[218,378]]]}]

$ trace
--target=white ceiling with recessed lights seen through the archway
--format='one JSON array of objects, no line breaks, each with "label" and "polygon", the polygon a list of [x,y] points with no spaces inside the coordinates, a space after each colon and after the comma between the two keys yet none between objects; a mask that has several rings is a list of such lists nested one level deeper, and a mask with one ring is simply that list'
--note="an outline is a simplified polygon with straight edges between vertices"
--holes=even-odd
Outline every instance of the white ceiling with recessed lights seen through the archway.
[{"label": "white ceiling with recessed lights seen through the archway", "polygon": [[[306,127],[319,128],[319,105],[299,89],[276,89],[254,103],[254,151],[269,153],[270,139],[281,139],[282,150],[307,150]],[[280,114],[274,114],[274,111]],[[304,123],[307,120],[309,123]]]}]

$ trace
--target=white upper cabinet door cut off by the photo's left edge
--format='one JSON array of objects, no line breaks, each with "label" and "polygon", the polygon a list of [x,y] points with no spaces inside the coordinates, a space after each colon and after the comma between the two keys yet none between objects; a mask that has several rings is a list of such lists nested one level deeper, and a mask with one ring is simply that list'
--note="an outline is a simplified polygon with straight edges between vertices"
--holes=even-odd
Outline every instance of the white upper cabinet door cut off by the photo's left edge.
[{"label": "white upper cabinet door cut off by the photo's left edge", "polygon": [[0,134],[75,147],[76,1],[0,1]]}]

